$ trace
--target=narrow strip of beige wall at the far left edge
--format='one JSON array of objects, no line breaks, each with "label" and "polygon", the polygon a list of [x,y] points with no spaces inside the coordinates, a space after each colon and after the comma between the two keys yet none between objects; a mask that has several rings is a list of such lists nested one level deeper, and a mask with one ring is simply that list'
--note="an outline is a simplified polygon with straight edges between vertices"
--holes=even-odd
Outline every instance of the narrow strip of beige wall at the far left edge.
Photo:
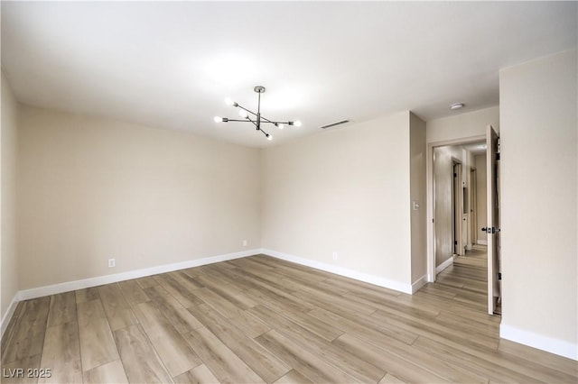
[{"label": "narrow strip of beige wall at the far left edge", "polygon": [[[4,74],[2,74],[2,221],[0,223],[0,279],[2,296],[0,297],[0,318],[4,319],[14,295],[18,291],[18,273],[16,259],[16,157],[17,157],[17,120],[18,104]],[[6,319],[7,320],[7,319]],[[3,329],[5,324],[3,322]]]}]

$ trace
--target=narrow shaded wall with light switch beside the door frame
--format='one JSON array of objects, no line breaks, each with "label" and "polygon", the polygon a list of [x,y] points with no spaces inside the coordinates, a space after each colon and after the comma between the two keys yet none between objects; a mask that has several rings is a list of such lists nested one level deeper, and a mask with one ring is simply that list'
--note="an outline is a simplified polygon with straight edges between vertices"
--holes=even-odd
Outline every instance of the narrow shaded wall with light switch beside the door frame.
[{"label": "narrow shaded wall with light switch beside the door frame", "polygon": [[[425,122],[409,115],[410,213],[412,239],[412,283],[427,273],[427,210],[425,209]],[[414,209],[414,202],[419,205]]]}]

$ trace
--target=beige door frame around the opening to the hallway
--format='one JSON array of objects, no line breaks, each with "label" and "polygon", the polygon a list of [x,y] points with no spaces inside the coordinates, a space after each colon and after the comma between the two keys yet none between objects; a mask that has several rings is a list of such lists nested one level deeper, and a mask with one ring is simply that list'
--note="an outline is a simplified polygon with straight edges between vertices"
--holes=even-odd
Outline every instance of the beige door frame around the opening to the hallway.
[{"label": "beige door frame around the opening to the hallway", "polygon": [[426,171],[426,188],[427,188],[427,281],[433,283],[435,281],[435,224],[433,218],[435,212],[433,210],[433,148],[444,147],[446,145],[461,145],[469,144],[471,142],[486,142],[486,135],[476,135],[464,137],[461,139],[446,140],[443,142],[429,142],[427,144],[425,156],[425,171]]}]

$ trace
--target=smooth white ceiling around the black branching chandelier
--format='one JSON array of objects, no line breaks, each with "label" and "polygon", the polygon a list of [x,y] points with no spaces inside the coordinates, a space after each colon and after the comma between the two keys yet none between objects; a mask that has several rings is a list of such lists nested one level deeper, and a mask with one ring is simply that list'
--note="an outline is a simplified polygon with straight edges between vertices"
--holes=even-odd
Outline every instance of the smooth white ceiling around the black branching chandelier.
[{"label": "smooth white ceiling around the black branching chandelier", "polygon": [[[266,147],[411,110],[499,104],[499,69],[577,45],[576,2],[5,2],[2,69],[16,98],[75,114]],[[303,121],[238,118],[226,96]],[[465,103],[459,112],[449,105]]]}]

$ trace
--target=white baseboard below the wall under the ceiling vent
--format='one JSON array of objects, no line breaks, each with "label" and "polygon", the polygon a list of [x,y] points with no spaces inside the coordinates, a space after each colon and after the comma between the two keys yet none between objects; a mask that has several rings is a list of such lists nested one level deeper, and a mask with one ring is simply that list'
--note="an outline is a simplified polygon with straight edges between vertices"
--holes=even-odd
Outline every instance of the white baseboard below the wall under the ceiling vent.
[{"label": "white baseboard below the wall under the ceiling vent", "polygon": [[[376,285],[378,287],[395,289],[400,292],[412,294],[412,285],[402,283],[400,281],[391,280],[381,278],[375,275],[370,275],[368,273],[359,272],[357,270],[350,270],[347,268],[337,267],[335,265],[326,264],[321,261],[312,261],[309,259],[303,259],[298,256],[290,255],[287,253],[279,252],[279,251],[272,251],[263,249],[261,253],[266,254],[267,256],[272,256],[277,259],[281,259],[284,261],[291,261],[296,264],[301,264],[307,267],[314,268],[316,270],[325,270],[326,272],[335,273],[336,275],[345,276],[346,278],[356,279],[359,281],[363,281],[369,284]],[[422,278],[424,279],[424,278]]]}]

